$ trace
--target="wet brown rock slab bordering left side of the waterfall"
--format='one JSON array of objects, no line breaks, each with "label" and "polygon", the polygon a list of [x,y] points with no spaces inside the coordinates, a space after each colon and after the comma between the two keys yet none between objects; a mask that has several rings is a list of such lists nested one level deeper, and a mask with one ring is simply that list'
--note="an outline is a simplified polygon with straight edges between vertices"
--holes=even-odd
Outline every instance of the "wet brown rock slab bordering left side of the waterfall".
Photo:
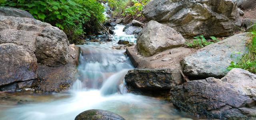
[{"label": "wet brown rock slab bordering left side of the waterfall", "polygon": [[68,63],[58,67],[39,65],[37,72],[39,80],[35,81],[36,91],[38,92],[61,92],[68,90],[76,80],[79,59],[79,48],[69,46],[69,55],[75,55],[75,59],[68,56]]}]

